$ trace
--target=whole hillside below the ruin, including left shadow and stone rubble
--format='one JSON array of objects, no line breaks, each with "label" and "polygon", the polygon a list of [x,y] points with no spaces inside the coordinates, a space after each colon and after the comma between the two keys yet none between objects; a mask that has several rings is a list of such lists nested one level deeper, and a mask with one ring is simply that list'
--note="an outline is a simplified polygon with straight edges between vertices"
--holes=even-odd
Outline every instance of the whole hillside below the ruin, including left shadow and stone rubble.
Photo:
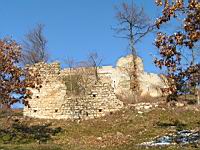
[{"label": "whole hillside below the ruin, including left shadow and stone rubble", "polygon": [[106,117],[81,122],[23,118],[20,111],[6,118],[6,113],[1,112],[0,149],[200,149],[198,142],[163,147],[139,145],[176,131],[200,129],[200,109],[195,105],[172,107],[162,100],[154,100],[148,104],[150,107],[140,108],[142,105],[145,103],[129,104]]}]

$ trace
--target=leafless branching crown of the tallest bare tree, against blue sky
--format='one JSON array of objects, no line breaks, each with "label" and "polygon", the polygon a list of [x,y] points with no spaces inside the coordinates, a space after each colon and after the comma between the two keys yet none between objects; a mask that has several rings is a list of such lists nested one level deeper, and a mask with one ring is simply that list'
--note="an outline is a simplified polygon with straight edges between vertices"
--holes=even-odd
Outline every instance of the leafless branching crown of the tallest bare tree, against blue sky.
[{"label": "leafless branching crown of the tallest bare tree, against blue sky", "polygon": [[[127,38],[130,43],[135,45],[154,30],[155,26],[145,14],[144,8],[139,8],[134,3],[122,3],[121,7],[116,9],[116,18],[119,24],[113,30],[119,35],[118,37]],[[133,50],[131,47],[130,49]]]}]

